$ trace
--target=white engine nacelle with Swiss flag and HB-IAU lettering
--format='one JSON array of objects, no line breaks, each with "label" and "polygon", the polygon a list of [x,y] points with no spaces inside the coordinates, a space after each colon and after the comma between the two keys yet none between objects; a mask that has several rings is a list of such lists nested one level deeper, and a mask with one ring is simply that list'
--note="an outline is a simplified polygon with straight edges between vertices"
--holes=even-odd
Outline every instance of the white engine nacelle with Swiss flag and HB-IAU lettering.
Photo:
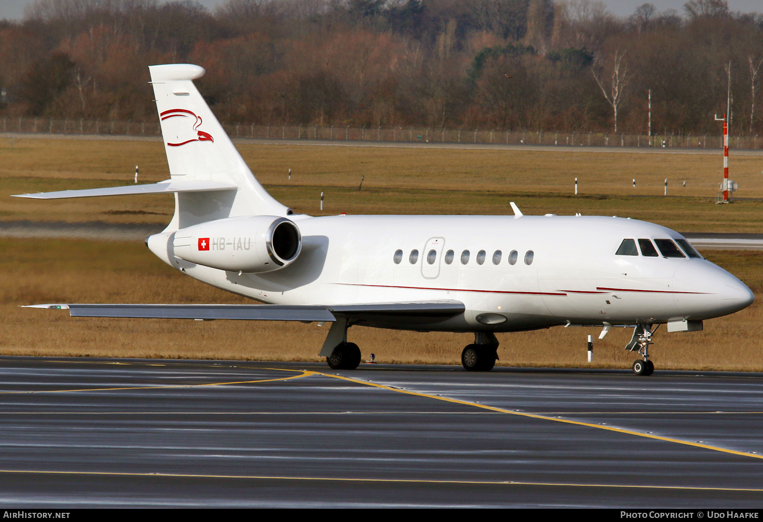
[{"label": "white engine nacelle with Swiss flag and HB-IAU lettering", "polygon": [[299,256],[302,236],[285,217],[227,217],[175,232],[175,256],[228,272],[272,272]]}]

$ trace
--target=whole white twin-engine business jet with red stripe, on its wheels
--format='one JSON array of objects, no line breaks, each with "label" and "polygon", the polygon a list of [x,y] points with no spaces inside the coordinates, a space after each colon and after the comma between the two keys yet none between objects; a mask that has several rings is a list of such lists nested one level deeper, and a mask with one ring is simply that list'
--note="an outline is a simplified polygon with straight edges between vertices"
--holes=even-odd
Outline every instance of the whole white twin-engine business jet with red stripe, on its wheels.
[{"label": "whole white twin-engine business jet with red stripe, on its wheels", "polygon": [[355,369],[352,326],[470,332],[465,369],[492,369],[497,332],[633,328],[638,375],[652,334],[702,330],[752,292],[681,234],[618,217],[294,214],[244,163],[193,83],[204,69],[151,66],[170,179],[24,198],[174,193],[175,215],[146,238],[169,266],[266,304],[37,304],[72,316],[330,322],[320,350]]}]

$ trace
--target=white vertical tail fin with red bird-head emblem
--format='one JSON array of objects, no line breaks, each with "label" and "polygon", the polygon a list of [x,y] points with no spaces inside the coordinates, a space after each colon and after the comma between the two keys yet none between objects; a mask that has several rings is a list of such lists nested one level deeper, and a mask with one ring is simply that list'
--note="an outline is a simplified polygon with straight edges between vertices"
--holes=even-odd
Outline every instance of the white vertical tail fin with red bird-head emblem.
[{"label": "white vertical tail fin with red bird-head emblem", "polygon": [[204,69],[187,63],[150,66],[156,108],[172,181],[237,185],[224,192],[179,193],[171,227],[242,215],[285,216],[291,211],[257,182],[193,84]]}]

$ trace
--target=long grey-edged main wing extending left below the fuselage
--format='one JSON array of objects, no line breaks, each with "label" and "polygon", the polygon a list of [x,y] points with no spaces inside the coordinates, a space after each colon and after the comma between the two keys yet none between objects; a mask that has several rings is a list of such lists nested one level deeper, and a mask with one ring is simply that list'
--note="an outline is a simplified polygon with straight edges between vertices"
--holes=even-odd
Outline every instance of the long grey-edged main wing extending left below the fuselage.
[{"label": "long grey-edged main wing extending left below the fuselage", "polygon": [[24,308],[69,310],[72,317],[142,317],[158,319],[237,319],[244,321],[336,321],[385,317],[445,320],[462,314],[461,301],[369,304],[31,304]]}]

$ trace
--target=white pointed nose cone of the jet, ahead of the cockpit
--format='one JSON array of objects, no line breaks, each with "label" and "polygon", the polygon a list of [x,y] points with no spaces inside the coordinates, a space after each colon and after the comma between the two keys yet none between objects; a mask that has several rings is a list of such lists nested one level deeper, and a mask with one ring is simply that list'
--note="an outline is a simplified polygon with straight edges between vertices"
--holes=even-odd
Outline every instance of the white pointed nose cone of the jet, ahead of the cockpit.
[{"label": "white pointed nose cone of the jet, ahead of the cockpit", "polygon": [[732,314],[755,301],[745,283],[704,259],[692,259],[679,266],[673,288],[679,313],[687,319]]}]

